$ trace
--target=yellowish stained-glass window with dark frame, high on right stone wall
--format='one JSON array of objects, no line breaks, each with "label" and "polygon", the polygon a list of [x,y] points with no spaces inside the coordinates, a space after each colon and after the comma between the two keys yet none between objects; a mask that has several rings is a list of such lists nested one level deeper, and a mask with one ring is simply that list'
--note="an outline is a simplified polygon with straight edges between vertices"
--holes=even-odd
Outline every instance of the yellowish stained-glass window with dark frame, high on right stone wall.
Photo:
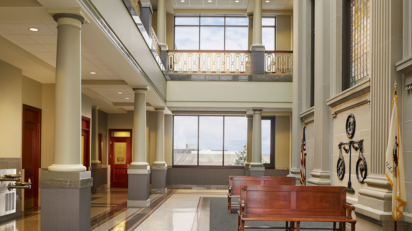
[{"label": "yellowish stained-glass window with dark frame, high on right stone wall", "polygon": [[343,41],[342,90],[346,90],[369,78],[369,0],[343,2],[346,40]]}]

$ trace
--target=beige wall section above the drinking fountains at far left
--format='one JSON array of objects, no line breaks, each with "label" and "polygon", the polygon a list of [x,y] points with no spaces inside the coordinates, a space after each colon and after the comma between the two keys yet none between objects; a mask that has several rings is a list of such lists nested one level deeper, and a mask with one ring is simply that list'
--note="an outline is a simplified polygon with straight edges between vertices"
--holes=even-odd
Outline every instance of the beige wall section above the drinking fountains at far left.
[{"label": "beige wall section above the drinking fountains at far left", "polygon": [[0,60],[0,83],[0,157],[21,158],[21,69]]}]

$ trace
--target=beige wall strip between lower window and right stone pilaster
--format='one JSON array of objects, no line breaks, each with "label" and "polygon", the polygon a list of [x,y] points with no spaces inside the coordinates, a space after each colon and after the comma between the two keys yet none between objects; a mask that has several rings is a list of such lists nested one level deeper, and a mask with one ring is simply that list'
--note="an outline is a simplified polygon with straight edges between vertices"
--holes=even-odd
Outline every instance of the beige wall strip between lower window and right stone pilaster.
[{"label": "beige wall strip between lower window and right stone pilaster", "polygon": [[290,160],[290,116],[275,118],[275,167],[289,169]]}]

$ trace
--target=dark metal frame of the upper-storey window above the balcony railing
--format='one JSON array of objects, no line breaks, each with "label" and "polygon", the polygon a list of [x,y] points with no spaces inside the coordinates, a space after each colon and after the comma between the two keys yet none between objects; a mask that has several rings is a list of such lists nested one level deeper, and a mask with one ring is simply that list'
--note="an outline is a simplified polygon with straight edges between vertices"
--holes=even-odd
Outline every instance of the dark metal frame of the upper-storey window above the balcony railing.
[{"label": "dark metal frame of the upper-storey window above the balcony railing", "polygon": [[[176,50],[176,27],[198,27],[199,28],[199,45],[197,50],[200,49],[200,29],[201,27],[222,27],[223,29],[223,50],[226,50],[226,27],[246,27],[248,28],[248,25],[226,25],[226,18],[242,18],[243,16],[174,16],[173,17],[173,49]],[[176,18],[199,18],[199,25],[176,25]],[[223,25],[201,25],[201,18],[224,18],[224,23]],[[269,27],[269,28],[274,28],[274,48],[276,50],[276,16],[263,16],[262,18],[274,18],[275,23],[273,26],[263,26],[263,27]],[[180,49],[184,50],[184,49]],[[247,50],[250,50],[248,48]],[[228,50],[231,51],[231,50]]]}]

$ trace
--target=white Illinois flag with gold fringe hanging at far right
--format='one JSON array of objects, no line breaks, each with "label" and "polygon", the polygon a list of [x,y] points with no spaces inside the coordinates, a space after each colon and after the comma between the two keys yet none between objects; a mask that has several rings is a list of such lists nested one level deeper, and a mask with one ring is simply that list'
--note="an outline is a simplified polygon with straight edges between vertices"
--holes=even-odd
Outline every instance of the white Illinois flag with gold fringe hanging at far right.
[{"label": "white Illinois flag with gold fringe hanging at far right", "polygon": [[399,130],[398,96],[393,94],[392,116],[389,127],[388,148],[386,149],[385,175],[392,185],[392,216],[398,220],[402,216],[402,206],[406,205],[405,175],[403,174],[402,142]]}]

